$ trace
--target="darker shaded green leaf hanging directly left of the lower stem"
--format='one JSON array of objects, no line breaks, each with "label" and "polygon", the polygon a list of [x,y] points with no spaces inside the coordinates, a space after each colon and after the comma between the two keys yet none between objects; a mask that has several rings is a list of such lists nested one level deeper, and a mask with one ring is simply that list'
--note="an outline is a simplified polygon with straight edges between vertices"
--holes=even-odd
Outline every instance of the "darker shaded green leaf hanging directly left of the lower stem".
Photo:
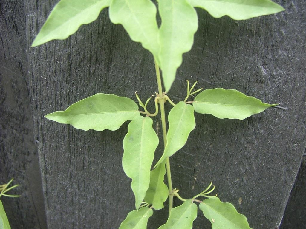
[{"label": "darker shaded green leaf hanging directly left of the lower stem", "polygon": [[165,161],[160,163],[155,169],[150,172],[150,184],[147,190],[144,201],[152,204],[155,210],[162,209],[163,203],[167,200],[169,190],[164,183],[166,174]]}]

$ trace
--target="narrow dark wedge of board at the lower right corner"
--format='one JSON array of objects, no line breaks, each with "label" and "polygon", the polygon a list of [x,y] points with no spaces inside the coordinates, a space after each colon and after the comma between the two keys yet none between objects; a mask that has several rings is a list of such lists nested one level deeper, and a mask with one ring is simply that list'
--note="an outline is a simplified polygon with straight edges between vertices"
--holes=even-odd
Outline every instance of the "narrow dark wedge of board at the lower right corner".
[{"label": "narrow dark wedge of board at the lower right corner", "polygon": [[306,225],[306,152],[291,191],[280,229],[304,228]]}]

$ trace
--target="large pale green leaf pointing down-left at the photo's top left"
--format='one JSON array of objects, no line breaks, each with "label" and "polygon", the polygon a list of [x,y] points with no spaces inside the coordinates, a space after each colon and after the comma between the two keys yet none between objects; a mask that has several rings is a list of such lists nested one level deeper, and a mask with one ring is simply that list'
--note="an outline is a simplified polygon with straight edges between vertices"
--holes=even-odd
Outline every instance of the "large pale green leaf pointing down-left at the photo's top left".
[{"label": "large pale green leaf pointing down-left at the photo's top left", "polygon": [[53,39],[64,40],[83,24],[96,20],[110,0],[61,0],[54,6],[32,47]]}]

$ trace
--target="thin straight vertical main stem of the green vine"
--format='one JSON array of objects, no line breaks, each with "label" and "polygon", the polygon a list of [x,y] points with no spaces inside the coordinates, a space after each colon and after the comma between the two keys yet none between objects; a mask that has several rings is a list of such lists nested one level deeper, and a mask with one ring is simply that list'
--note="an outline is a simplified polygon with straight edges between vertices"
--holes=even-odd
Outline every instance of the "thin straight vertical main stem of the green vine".
[{"label": "thin straight vertical main stem of the green vine", "polygon": [[[163,92],[162,92],[162,81],[160,78],[159,73],[159,66],[154,59],[155,64],[155,71],[156,71],[156,78],[157,78],[157,86],[158,86],[158,93],[160,96],[159,99],[159,107],[160,107],[160,115],[162,119],[162,137],[164,140],[164,147],[166,147],[167,144],[167,127],[166,127],[166,115],[165,115],[165,101],[166,98],[163,99]],[[172,179],[171,179],[171,169],[170,169],[170,160],[169,157],[166,158],[166,171],[167,171],[167,179],[168,179],[168,188],[169,188],[169,212],[168,215],[170,215],[171,209],[173,207],[173,187],[172,187]]]}]

